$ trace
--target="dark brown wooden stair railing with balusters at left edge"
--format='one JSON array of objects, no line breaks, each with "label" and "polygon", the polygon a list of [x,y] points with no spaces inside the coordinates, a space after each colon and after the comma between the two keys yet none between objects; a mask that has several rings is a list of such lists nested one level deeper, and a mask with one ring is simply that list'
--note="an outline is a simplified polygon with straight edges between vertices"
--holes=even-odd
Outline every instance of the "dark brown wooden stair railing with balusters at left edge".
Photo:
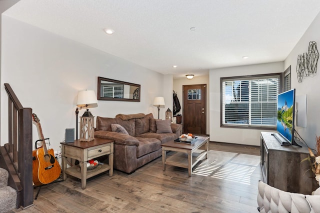
[{"label": "dark brown wooden stair railing with balusters at left edge", "polygon": [[8,95],[8,143],[3,145],[7,153],[3,157],[10,161],[6,162],[8,185],[17,190],[17,208],[27,208],[33,205],[32,109],[22,107],[8,83],[4,87]]}]

